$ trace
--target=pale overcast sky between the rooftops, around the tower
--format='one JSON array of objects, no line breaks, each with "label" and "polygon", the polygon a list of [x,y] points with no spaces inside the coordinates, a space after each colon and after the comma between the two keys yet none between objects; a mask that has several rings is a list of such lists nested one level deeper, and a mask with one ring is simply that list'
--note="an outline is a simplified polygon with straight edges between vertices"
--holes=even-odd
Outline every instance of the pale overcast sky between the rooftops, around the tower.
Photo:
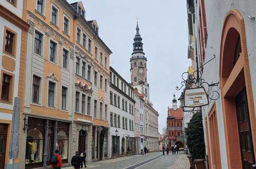
[{"label": "pale overcast sky between the rooftops, around the tower", "polygon": [[[68,0],[73,3],[77,0]],[[113,52],[110,66],[131,82],[130,58],[139,19],[143,49],[148,59],[150,101],[158,111],[159,132],[166,126],[167,107],[175,87],[191,61],[187,59],[188,23],[186,0],[82,0],[86,20],[96,19],[99,37]]]}]

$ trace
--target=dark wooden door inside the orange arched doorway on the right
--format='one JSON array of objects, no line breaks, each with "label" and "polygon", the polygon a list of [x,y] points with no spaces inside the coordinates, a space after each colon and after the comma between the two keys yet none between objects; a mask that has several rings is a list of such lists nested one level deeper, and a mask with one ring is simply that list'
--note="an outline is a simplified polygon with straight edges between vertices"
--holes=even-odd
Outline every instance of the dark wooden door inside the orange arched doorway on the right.
[{"label": "dark wooden door inside the orange arched doorway on the right", "polygon": [[255,159],[245,88],[235,97],[235,103],[237,110],[242,166],[243,169],[252,169],[252,164],[255,163]]}]

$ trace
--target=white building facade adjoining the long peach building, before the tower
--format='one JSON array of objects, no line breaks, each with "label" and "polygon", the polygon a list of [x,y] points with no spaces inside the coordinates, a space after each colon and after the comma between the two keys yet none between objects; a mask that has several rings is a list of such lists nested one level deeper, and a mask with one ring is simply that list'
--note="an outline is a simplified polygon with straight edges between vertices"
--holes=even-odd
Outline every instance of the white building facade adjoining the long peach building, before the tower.
[{"label": "white building facade adjoining the long peach building, before the tower", "polygon": [[134,92],[110,67],[110,146],[112,158],[136,153]]}]

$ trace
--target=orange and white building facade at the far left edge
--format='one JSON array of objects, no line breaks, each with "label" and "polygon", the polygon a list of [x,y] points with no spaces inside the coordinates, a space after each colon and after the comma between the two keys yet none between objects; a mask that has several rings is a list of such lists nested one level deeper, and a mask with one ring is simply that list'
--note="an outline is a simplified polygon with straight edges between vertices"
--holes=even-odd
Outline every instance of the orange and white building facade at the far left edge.
[{"label": "orange and white building facade at the far left edge", "polygon": [[[12,131],[12,114],[15,98],[24,104],[26,49],[29,24],[24,21],[23,0],[0,1],[0,169],[9,169],[13,161],[9,158]],[[19,121],[23,122],[20,109]],[[21,126],[21,125],[20,125]],[[22,127],[19,133],[22,133]],[[22,147],[19,146],[19,150]],[[14,165],[23,159],[18,156]]]}]

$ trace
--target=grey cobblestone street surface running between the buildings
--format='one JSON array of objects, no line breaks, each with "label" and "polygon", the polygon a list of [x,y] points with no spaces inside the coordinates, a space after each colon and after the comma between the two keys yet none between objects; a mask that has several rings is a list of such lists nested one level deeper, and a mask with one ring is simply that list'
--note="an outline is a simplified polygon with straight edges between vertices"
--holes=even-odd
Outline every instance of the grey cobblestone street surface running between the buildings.
[{"label": "grey cobblestone street surface running between the buildings", "polygon": [[[161,155],[162,152],[146,155],[132,155],[116,159],[88,162],[87,168],[93,169],[189,169],[189,160],[186,154]],[[154,159],[159,157],[157,159]],[[152,160],[150,160],[152,159]],[[144,163],[141,163],[144,162]],[[140,164],[141,163],[141,164]],[[138,165],[136,165],[138,164]],[[73,169],[68,167],[65,169]]]}]

